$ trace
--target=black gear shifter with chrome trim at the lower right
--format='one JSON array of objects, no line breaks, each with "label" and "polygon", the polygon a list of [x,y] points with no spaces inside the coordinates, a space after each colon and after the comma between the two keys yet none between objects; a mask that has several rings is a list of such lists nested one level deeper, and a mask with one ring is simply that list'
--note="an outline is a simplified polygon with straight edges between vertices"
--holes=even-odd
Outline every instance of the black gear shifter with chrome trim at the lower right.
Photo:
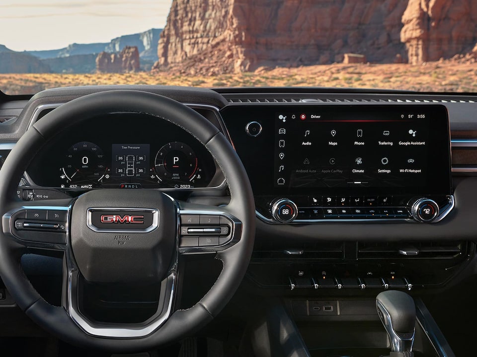
[{"label": "black gear shifter with chrome trim at the lower right", "polygon": [[386,291],[376,297],[376,307],[391,341],[390,357],[412,357],[416,324],[412,297],[400,291]]}]

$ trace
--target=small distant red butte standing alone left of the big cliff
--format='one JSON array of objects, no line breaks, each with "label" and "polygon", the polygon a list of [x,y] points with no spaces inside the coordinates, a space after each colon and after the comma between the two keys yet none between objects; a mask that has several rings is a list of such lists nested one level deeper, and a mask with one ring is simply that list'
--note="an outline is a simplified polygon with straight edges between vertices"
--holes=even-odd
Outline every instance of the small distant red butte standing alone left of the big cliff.
[{"label": "small distant red butte standing alone left of the big cliff", "polygon": [[120,53],[101,52],[96,57],[96,71],[100,73],[138,72],[140,69],[137,47],[126,46]]}]

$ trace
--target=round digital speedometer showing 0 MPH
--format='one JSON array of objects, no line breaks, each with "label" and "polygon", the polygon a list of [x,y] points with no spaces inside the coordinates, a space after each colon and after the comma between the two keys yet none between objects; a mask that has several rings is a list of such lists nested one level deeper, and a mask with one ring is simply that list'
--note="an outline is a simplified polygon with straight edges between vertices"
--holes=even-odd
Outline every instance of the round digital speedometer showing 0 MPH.
[{"label": "round digital speedometer showing 0 MPH", "polygon": [[68,187],[92,188],[109,178],[109,169],[101,148],[92,142],[81,141],[68,149],[60,175]]}]

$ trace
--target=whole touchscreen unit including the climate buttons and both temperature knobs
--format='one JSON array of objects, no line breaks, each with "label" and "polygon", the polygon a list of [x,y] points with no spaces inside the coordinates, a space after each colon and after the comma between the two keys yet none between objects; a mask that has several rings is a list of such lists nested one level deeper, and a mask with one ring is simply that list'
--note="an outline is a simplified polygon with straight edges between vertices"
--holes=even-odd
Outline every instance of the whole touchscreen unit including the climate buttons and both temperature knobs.
[{"label": "whole touchscreen unit including the climate buttons and both temperature knobs", "polygon": [[431,223],[454,207],[442,105],[242,104],[222,116],[267,223]]}]

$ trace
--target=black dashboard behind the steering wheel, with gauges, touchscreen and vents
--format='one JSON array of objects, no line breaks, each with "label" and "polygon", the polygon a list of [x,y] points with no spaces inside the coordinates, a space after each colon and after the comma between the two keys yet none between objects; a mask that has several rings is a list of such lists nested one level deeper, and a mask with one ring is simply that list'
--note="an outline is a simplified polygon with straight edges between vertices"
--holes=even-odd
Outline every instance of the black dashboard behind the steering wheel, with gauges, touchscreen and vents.
[{"label": "black dashboard behind the steering wheel, with gauges, touchscreen and vents", "polygon": [[[61,103],[111,89],[146,90],[187,104],[231,142],[255,197],[256,242],[247,276],[260,289],[329,284],[337,292],[372,290],[392,279],[397,289],[442,287],[462,279],[475,258],[475,96],[58,88],[18,101],[16,110],[13,103],[0,106],[16,115],[0,123],[2,156]],[[18,197],[153,188],[191,203],[227,204],[222,171],[193,134],[147,114],[72,122],[32,158]],[[323,271],[332,279],[323,280]]]}]

